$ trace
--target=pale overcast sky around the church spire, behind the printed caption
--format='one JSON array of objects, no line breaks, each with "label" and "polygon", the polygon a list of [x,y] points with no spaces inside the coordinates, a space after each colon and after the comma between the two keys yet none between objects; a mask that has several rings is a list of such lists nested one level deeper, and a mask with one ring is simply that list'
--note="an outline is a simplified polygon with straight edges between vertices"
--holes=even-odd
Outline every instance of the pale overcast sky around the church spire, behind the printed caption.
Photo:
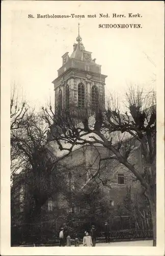
[{"label": "pale overcast sky around the church spire, behind the printed caption", "polygon": [[[26,1],[24,1],[26,2]],[[107,75],[105,92],[123,96],[127,86],[155,86],[160,52],[160,20],[156,2],[79,2],[33,1],[29,7],[11,12],[11,83],[19,88],[32,106],[54,101],[53,79],[62,66],[61,56],[73,51],[80,22],[80,36],[92,58],[102,65]],[[120,3],[120,5],[119,5]],[[37,14],[95,14],[108,13],[110,18],[37,18]],[[112,18],[113,13],[126,18]],[[128,13],[140,13],[141,18],[128,18]],[[28,18],[33,14],[35,18]],[[99,24],[141,24],[141,29],[100,29]]]}]

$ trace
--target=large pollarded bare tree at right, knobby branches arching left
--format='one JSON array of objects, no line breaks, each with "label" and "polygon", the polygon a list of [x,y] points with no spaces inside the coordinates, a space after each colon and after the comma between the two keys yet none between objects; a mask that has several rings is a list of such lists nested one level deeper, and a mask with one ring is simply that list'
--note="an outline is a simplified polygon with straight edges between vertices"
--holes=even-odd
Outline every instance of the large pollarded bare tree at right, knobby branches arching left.
[{"label": "large pollarded bare tree at right, knobby branches arching left", "polygon": [[[54,113],[43,109],[43,118],[50,127],[51,136],[60,150],[71,152],[76,145],[102,145],[112,152],[107,159],[115,159],[126,166],[140,181],[144,195],[149,200],[153,245],[156,245],[156,102],[154,92],[144,94],[132,87],[126,94],[127,111],[123,114],[115,100],[106,102],[106,108],[98,105],[92,116],[88,106],[78,110]],[[101,105],[101,103],[100,103]],[[74,115],[73,115],[74,114]],[[129,161],[132,143],[139,146],[142,168]],[[65,142],[65,143],[64,143]],[[105,160],[105,159],[100,159]]]}]

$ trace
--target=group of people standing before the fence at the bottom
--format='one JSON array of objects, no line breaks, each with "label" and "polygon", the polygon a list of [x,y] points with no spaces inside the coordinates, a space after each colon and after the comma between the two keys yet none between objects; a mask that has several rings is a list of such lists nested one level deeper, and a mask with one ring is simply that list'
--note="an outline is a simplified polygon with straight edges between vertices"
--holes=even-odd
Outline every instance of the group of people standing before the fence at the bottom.
[{"label": "group of people standing before the fence at the bottom", "polygon": [[[110,237],[109,237],[109,224],[107,221],[104,223],[104,235],[105,235],[105,242],[108,243],[110,242]],[[64,227],[61,227],[61,231],[59,234],[60,238],[60,247],[61,246],[71,246],[71,238],[68,236],[68,231],[67,231],[67,226],[64,224]],[[74,240],[75,246],[79,246],[79,240],[78,238],[75,238]],[[84,246],[96,246],[96,229],[95,226],[91,226],[90,232],[85,231],[85,236],[82,241]]]}]

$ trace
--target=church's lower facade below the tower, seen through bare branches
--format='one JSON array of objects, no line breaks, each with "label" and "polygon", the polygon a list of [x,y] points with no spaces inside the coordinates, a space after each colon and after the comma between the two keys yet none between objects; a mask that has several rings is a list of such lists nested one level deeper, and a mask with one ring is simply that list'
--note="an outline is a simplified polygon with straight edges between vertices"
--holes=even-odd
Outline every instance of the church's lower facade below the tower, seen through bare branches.
[{"label": "church's lower facade below the tower, seen through bare branches", "polygon": [[[131,199],[133,200],[136,194],[141,191],[141,185],[136,181],[130,170],[117,160],[101,162],[100,177],[96,176],[95,180],[92,178],[99,170],[100,157],[107,157],[111,154],[107,148],[102,146],[87,145],[74,150],[70,156],[62,160],[61,164],[63,166],[66,165],[71,170],[70,178],[67,176],[64,183],[65,186],[70,186],[73,194],[75,191],[90,194],[99,184],[104,200],[111,202],[112,208],[115,211],[119,205],[123,205],[127,188],[131,186]],[[142,168],[140,146],[134,145],[128,160],[130,163],[134,163],[135,167],[139,170]],[[56,200],[58,201],[58,208],[66,209],[66,211],[71,210],[70,202],[64,196],[59,195]],[[81,202],[75,204],[72,201],[71,204],[74,207],[78,207]]]}]

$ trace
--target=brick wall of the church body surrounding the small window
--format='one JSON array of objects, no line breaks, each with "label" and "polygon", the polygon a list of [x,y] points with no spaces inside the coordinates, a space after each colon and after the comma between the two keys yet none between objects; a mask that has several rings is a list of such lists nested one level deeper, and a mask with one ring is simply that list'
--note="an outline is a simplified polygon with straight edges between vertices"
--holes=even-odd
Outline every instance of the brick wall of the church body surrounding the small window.
[{"label": "brick wall of the church body surrounding the small window", "polygon": [[[101,157],[106,157],[109,154],[112,154],[107,150],[107,148],[101,146],[84,146],[78,148],[72,152],[72,154],[63,160],[63,163],[67,164],[72,170],[72,178],[79,188],[84,186],[89,179],[89,174],[94,174],[98,170],[99,155]],[[136,149],[128,158],[130,163],[133,163],[136,168],[141,168],[141,155],[139,148]],[[98,180],[98,183],[104,193],[104,198],[106,200],[112,200],[114,203],[114,208],[118,205],[123,204],[123,199],[127,193],[127,186],[131,185],[131,197],[132,199],[137,194],[137,191],[140,190],[140,183],[136,181],[134,175],[126,168],[124,165],[119,163],[117,160],[108,160],[105,163],[102,163],[103,169],[101,170],[100,178],[103,181],[108,180],[106,185],[102,184],[102,181]],[[88,175],[83,178],[80,175],[87,173]],[[124,174],[124,184],[118,184],[118,174]],[[84,189],[94,185],[93,180],[89,181],[85,185]],[[108,186],[107,186],[108,185]],[[111,187],[111,188],[109,188]],[[67,205],[65,200],[61,200],[60,207],[65,207]]]}]

